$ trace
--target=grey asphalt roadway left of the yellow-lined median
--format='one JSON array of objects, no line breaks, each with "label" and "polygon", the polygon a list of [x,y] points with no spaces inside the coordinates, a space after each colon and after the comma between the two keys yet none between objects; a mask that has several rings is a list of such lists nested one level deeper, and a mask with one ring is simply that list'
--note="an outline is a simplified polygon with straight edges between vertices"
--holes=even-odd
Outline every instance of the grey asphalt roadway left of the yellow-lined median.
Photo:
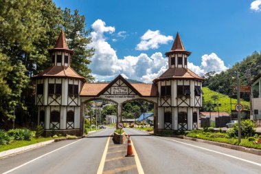
[{"label": "grey asphalt roadway left of the yellow-lined median", "polygon": [[[103,129],[93,133],[89,138],[60,141],[6,157],[0,160],[0,173],[10,171],[37,157],[40,158],[10,173],[97,173],[108,135],[113,130]],[[59,149],[62,146],[65,147]],[[58,150],[55,151],[56,149]],[[45,156],[41,157],[42,155]]]}]

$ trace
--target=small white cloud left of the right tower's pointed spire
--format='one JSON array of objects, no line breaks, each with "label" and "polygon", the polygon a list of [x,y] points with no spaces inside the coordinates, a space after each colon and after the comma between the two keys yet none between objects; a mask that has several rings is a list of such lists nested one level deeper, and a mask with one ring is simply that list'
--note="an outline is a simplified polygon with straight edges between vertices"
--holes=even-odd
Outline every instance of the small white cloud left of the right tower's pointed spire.
[{"label": "small white cloud left of the right tower's pointed spire", "polygon": [[160,44],[167,44],[169,41],[173,41],[172,36],[164,36],[160,34],[159,30],[148,30],[143,36],[141,36],[141,42],[136,45],[135,49],[157,49]]}]

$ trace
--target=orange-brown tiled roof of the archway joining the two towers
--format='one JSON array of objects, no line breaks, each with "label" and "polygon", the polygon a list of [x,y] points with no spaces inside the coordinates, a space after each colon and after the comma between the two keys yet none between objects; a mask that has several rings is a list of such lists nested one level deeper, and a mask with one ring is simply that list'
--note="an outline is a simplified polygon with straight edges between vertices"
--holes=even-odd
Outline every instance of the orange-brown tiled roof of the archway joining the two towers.
[{"label": "orange-brown tiled roof of the archway joining the two towers", "polygon": [[128,83],[121,75],[117,76],[111,83],[84,83],[80,96],[98,97],[106,92],[117,80],[122,80],[138,96],[157,97],[157,85],[146,83]]}]

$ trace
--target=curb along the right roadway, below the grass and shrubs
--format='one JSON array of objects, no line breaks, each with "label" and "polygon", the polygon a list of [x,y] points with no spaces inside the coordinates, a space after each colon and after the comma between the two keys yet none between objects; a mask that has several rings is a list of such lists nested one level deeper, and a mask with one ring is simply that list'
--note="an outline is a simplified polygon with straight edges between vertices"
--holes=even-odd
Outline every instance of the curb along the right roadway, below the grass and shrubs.
[{"label": "curb along the right roadway, below the grass and shrubs", "polygon": [[[155,134],[155,133],[153,135],[162,136],[162,135]],[[247,148],[245,146],[236,146],[236,145],[227,144],[227,143],[223,143],[223,142],[214,142],[214,141],[203,140],[203,139],[199,139],[199,138],[186,137],[186,136],[183,136],[183,135],[172,135],[172,136],[168,136],[168,137],[180,138],[180,139],[184,139],[184,140],[191,140],[191,141],[195,141],[195,142],[203,142],[203,143],[207,143],[207,144],[221,146],[221,147],[224,147],[224,148],[227,148],[227,149],[233,149],[233,150],[236,150],[236,151],[252,153],[254,155],[261,155],[261,150],[251,149],[251,148]]]}]

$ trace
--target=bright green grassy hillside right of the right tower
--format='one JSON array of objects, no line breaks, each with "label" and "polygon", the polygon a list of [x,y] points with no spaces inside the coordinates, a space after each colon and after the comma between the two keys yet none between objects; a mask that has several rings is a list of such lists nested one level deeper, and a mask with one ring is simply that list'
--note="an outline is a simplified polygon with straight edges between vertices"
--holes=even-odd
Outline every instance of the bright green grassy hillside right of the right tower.
[{"label": "bright green grassy hillside right of the right tower", "polygon": [[[207,87],[203,87],[202,89],[203,89],[203,92],[204,92],[203,108],[201,109],[202,111],[209,111],[208,110],[209,109],[209,103],[212,103],[212,106],[214,105],[215,100],[212,98],[212,96],[217,96],[218,99],[216,99],[216,103],[221,104],[218,107],[214,107],[214,110],[212,110],[212,111],[218,111],[218,109],[219,109],[220,112],[224,111],[224,112],[230,113],[231,112],[231,106],[232,106],[232,110],[234,110],[235,105],[238,103],[238,101],[236,99],[231,98],[231,105],[230,105],[229,96],[226,96],[224,94],[220,94],[218,92],[212,91]],[[240,102],[243,105],[244,110],[250,109],[249,102],[246,102],[242,99],[240,100]]]}]

